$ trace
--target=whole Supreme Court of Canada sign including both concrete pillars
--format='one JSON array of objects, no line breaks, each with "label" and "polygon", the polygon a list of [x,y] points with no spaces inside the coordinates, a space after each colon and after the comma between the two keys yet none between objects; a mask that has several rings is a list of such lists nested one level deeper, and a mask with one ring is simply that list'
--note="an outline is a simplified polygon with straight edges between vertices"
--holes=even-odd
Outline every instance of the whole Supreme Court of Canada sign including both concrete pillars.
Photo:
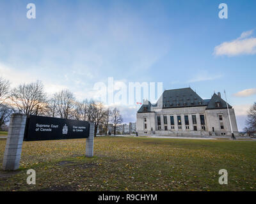
[{"label": "whole Supreme Court of Canada sign including both concrete pillars", "polygon": [[17,170],[19,168],[23,140],[65,140],[72,138],[86,138],[86,157],[93,157],[93,122],[15,113],[10,119],[3,170]]}]

